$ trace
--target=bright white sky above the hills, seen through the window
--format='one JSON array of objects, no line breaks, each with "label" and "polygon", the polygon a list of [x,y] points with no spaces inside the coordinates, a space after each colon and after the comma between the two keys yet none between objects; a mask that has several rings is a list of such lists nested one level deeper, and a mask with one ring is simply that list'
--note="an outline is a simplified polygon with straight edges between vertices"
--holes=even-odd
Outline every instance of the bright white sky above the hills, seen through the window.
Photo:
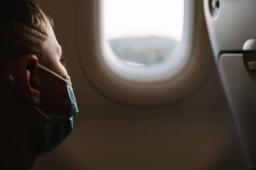
[{"label": "bright white sky above the hills, seen through the window", "polygon": [[105,0],[104,24],[108,38],[167,36],[182,38],[182,0]]}]

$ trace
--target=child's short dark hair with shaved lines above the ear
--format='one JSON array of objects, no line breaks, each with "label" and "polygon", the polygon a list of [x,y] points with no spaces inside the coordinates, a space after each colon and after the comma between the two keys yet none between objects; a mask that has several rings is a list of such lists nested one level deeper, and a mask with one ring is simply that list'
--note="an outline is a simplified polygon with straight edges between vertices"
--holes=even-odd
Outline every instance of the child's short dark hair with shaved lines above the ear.
[{"label": "child's short dark hair with shaved lines above the ear", "polygon": [[0,74],[12,60],[24,55],[44,57],[47,27],[54,27],[33,0],[4,0],[0,6]]}]

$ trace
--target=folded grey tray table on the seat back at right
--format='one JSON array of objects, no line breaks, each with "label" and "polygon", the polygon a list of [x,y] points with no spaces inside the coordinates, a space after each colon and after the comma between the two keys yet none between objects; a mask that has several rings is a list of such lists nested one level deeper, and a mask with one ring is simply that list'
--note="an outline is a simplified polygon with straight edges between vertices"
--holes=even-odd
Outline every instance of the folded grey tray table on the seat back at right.
[{"label": "folded grey tray table on the seat back at right", "polygon": [[255,167],[252,155],[256,154],[256,82],[248,74],[243,54],[221,55],[219,71],[244,150],[251,155],[250,164]]}]

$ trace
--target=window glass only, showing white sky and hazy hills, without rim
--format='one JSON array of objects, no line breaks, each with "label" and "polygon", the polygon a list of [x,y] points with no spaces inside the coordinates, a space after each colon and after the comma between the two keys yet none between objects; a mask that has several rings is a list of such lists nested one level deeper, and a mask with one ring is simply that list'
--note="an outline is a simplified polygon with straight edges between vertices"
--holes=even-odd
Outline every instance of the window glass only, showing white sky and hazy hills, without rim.
[{"label": "window glass only, showing white sky and hazy hills, without rim", "polygon": [[102,10],[106,46],[129,66],[161,64],[182,42],[184,0],[104,0]]}]

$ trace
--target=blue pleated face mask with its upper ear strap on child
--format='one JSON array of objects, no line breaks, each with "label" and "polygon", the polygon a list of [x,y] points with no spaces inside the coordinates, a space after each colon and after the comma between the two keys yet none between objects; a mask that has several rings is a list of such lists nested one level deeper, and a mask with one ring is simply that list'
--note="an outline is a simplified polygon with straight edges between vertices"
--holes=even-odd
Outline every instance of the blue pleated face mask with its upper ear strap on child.
[{"label": "blue pleated face mask with its upper ear strap on child", "polygon": [[38,119],[44,135],[44,142],[42,143],[38,155],[43,156],[49,153],[53,148],[56,148],[56,146],[60,145],[72,132],[73,119],[78,113],[78,110],[69,76],[64,79],[44,66],[39,65],[38,67],[53,74],[56,76],[56,78],[63,80],[63,82],[66,83],[68,96],[70,98],[70,111],[65,117],[61,117],[59,115],[50,115],[47,113],[45,114],[42,110],[36,108],[36,110],[40,113],[40,115],[38,115]]}]

